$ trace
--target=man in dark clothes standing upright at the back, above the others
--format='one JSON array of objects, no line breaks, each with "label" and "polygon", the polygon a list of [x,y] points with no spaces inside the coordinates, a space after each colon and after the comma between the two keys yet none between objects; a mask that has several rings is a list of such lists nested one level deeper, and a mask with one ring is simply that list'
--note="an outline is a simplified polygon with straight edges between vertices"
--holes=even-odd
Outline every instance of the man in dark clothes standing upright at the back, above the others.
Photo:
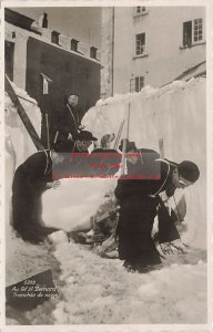
[{"label": "man in dark clothes standing upright at the back, above the others", "polygon": [[79,110],[77,108],[79,97],[70,95],[68,103],[61,114],[59,124],[55,126],[54,144],[61,145],[61,152],[71,152],[72,141],[78,138],[78,134],[83,129],[81,125]]}]

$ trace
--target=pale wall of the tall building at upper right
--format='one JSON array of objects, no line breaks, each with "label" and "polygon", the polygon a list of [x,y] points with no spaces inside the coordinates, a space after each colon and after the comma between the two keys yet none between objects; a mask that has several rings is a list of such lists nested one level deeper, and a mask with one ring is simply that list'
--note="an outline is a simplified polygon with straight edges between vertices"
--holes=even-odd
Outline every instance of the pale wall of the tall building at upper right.
[{"label": "pale wall of the tall building at upper right", "polygon": [[[183,22],[202,18],[204,23],[204,7],[149,7],[146,14],[138,17],[134,10],[114,10],[114,93],[130,92],[130,80],[135,76],[144,76],[144,85],[162,86],[205,60],[205,43],[182,48]],[[146,51],[136,58],[135,34],[142,32]]]}]

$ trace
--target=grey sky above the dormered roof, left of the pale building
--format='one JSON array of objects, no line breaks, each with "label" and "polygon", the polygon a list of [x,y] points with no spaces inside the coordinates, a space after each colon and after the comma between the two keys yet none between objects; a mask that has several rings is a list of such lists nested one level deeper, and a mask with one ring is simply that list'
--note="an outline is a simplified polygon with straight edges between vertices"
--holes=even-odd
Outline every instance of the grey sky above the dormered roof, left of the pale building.
[{"label": "grey sky above the dormered roof, left of the pale building", "polygon": [[48,13],[49,28],[65,35],[75,37],[82,42],[101,48],[101,8],[100,7],[37,7],[11,8],[37,20]]}]

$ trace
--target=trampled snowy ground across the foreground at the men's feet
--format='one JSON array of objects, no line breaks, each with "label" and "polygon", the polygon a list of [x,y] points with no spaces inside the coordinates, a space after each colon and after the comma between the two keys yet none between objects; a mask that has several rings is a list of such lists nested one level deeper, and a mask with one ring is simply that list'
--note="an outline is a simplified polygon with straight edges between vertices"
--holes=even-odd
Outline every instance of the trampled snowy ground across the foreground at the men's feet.
[{"label": "trampled snowy ground across the foreground at the men's feet", "polygon": [[8,266],[7,279],[10,268],[16,268],[17,278],[10,278],[16,282],[26,278],[26,271],[31,274],[51,266],[60,297],[24,314],[9,310],[8,324],[206,323],[206,258],[202,250],[191,248],[184,256],[170,256],[160,270],[139,274],[126,272],[119,259],[101,258],[82,245],[18,242],[19,259],[10,260],[13,266]]}]

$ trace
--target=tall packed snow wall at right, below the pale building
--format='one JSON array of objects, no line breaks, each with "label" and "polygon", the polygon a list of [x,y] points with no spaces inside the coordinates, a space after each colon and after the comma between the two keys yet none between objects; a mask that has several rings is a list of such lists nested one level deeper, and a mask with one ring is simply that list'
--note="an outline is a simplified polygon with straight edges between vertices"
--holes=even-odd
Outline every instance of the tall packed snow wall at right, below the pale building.
[{"label": "tall packed snow wall at right, below the pale building", "polygon": [[[200,179],[184,190],[187,231],[183,238],[195,247],[206,248],[205,79],[175,81],[162,89],[146,86],[140,93],[99,101],[87,113],[83,124],[98,138],[106,133],[116,134],[129,107],[129,139],[138,147],[159,151],[159,139],[163,138],[165,158],[199,165]],[[124,127],[121,137],[125,134]]]}]

